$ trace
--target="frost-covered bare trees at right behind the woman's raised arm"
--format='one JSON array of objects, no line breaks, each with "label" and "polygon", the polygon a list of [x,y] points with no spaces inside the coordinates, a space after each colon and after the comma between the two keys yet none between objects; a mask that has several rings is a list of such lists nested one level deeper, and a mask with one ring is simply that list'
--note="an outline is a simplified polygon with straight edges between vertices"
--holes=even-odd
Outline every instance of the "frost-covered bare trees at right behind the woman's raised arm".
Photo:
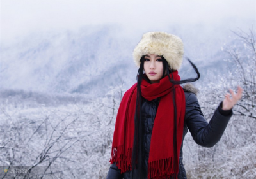
[{"label": "frost-covered bare trees at right behind the woman's raised arm", "polygon": [[[243,97],[234,106],[234,115],[221,138],[212,148],[195,144],[191,136],[184,141],[184,161],[189,178],[255,178],[256,176],[256,51],[255,34],[234,32],[232,45],[223,53],[230,62],[229,75],[200,87],[198,99],[208,120],[224,99],[228,89],[240,85]],[[223,54],[225,56],[225,54]],[[227,67],[228,69],[228,67]]]}]

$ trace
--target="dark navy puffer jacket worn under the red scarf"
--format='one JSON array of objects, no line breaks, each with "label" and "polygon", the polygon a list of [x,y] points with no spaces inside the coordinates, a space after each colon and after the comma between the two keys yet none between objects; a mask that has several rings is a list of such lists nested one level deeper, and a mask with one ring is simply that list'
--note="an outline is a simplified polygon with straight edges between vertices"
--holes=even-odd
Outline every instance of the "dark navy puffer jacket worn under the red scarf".
[{"label": "dark navy puffer jacket worn under the red scarf", "polygon": [[[214,115],[211,118],[211,121],[208,122],[205,120],[204,115],[202,114],[200,105],[196,98],[196,95],[193,92],[188,92],[185,90],[186,98],[186,114],[183,128],[183,140],[186,133],[189,131],[193,136],[193,139],[198,145],[203,147],[212,147],[214,146],[221,138],[225,128],[227,127],[228,121],[232,116],[232,110],[224,111],[221,108],[222,103],[218,106]],[[150,149],[150,140],[152,129],[154,125],[154,119],[156,116],[157,106],[159,104],[160,98],[154,99],[152,101],[147,101],[143,99],[142,103],[142,115],[143,120],[145,121],[145,166],[148,165],[149,149]],[[180,148],[180,162],[179,162],[179,179],[186,179],[186,171],[183,166],[183,157],[182,157],[182,146]],[[126,171],[125,173],[120,173],[120,169],[116,167],[116,164],[112,164],[109,168],[107,179],[128,179],[130,178],[131,172]],[[136,176],[136,172],[134,173]],[[138,177],[134,177],[138,178]],[[144,179],[144,178],[143,178]],[[146,178],[145,178],[146,179]]]}]

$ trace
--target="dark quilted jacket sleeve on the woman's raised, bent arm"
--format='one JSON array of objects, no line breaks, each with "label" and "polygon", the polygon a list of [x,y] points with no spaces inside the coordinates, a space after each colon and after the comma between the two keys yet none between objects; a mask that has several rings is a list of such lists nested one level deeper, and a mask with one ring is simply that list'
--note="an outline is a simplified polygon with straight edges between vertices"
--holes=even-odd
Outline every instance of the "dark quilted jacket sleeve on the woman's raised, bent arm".
[{"label": "dark quilted jacket sleeve on the woman's raised, bent arm", "polygon": [[198,145],[202,145],[203,147],[214,146],[218,141],[220,141],[220,138],[227,127],[228,121],[232,116],[232,110],[222,110],[222,103],[220,103],[208,124],[202,114],[195,94],[185,92],[185,96],[185,121],[193,139]]}]

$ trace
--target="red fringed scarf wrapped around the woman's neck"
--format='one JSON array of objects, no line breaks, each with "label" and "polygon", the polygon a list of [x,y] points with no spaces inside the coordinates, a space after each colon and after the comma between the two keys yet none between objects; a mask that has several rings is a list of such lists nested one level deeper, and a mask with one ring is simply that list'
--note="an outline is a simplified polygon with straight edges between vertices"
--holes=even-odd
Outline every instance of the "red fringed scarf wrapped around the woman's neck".
[{"label": "red fringed scarf wrapped around the woman's neck", "polygon": [[[179,81],[178,71],[173,72],[173,80]],[[141,95],[151,101],[161,97],[151,136],[148,159],[148,178],[162,179],[176,176],[179,172],[179,155],[182,143],[185,116],[185,96],[180,85],[175,85],[175,104],[177,108],[177,163],[174,163],[173,150],[173,85],[168,76],[159,83],[141,82]],[[125,92],[116,117],[110,162],[116,162],[121,173],[131,170],[131,156],[134,139],[134,114],[137,97],[137,83]],[[174,165],[177,167],[174,168]],[[176,178],[175,177],[175,178]]]}]

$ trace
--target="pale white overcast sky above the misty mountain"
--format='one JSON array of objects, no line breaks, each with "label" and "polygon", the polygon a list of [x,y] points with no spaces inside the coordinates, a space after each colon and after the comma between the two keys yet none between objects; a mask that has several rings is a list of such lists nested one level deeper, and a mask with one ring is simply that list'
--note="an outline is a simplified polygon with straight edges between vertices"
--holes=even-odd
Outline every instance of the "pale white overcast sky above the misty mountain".
[{"label": "pale white overcast sky above the misty mountain", "polygon": [[230,27],[250,22],[249,27],[256,23],[254,0],[0,1],[2,43],[30,32],[76,30],[85,25],[120,25],[122,33],[128,35],[151,29],[164,31],[170,25],[203,24],[216,28],[228,20],[234,21],[228,22]]}]

